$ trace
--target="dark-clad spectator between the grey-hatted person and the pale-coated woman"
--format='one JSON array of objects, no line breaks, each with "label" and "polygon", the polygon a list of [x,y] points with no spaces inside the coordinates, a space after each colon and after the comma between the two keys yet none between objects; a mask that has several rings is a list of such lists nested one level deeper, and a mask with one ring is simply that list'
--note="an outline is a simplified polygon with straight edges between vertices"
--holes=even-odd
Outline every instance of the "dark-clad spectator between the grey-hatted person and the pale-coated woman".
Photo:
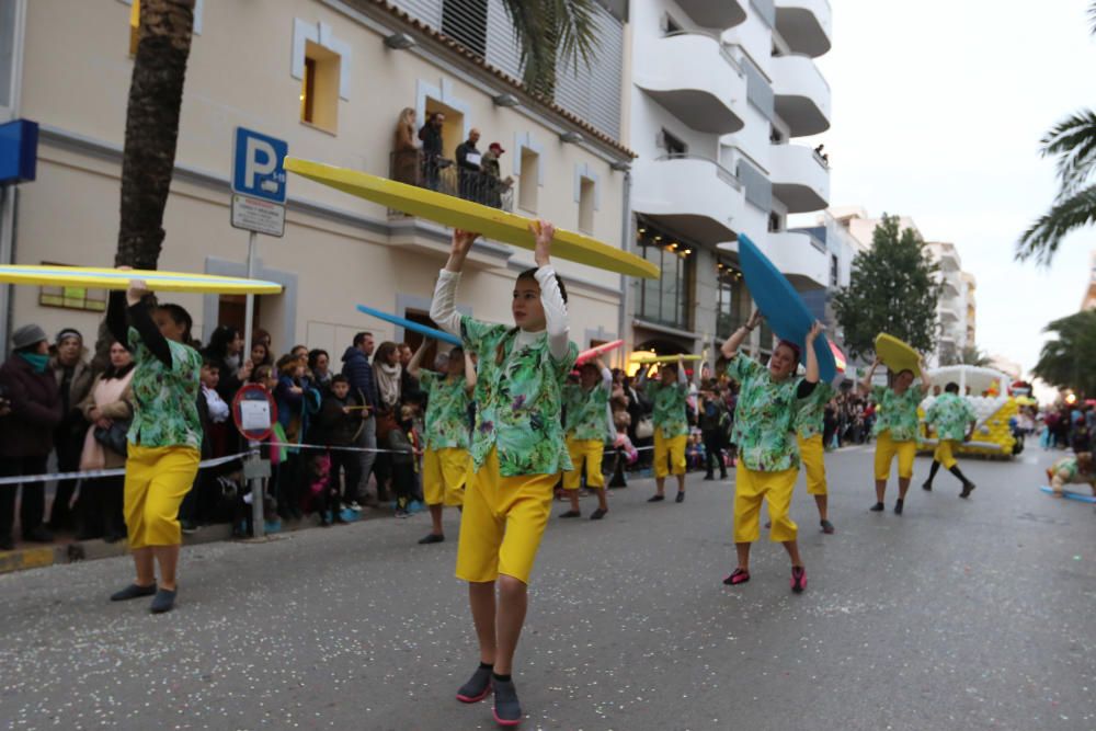
[{"label": "dark-clad spectator between the grey-hatted person and the pale-coated woman", "polygon": [[[83,452],[83,437],[88,432],[88,422],[80,411],[80,403],[88,398],[91,390],[92,372],[83,346],[83,335],[79,331],[66,328],[57,333],[55,340],[56,354],[49,358],[49,370],[57,380],[61,395],[61,423],[54,431],[54,448],[57,450],[57,471],[75,472],[80,466],[80,454]],[[76,480],[57,482],[57,493],[49,511],[49,527],[54,530],[68,530],[75,526],[72,521],[72,495],[76,493]]]}]

